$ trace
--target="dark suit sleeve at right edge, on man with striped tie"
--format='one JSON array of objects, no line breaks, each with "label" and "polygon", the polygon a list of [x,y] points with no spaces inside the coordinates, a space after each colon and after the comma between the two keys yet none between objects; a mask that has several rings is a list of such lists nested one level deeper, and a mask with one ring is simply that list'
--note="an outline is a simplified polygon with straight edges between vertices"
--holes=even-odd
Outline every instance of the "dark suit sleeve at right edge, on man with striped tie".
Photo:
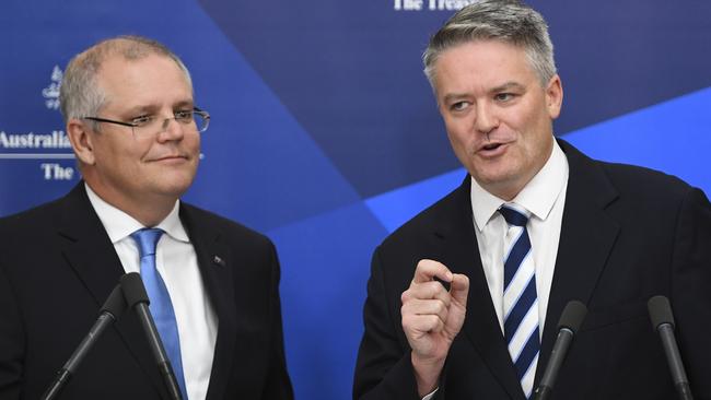
[{"label": "dark suit sleeve at right edge, on man with striped tie", "polygon": [[671,302],[691,391],[697,399],[711,399],[711,204],[699,189],[680,207]]}]

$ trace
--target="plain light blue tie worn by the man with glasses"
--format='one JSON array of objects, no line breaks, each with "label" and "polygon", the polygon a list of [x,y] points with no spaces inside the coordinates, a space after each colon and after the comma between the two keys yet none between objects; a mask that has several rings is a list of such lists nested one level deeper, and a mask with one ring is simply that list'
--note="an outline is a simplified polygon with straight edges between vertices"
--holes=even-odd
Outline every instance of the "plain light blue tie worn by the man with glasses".
[{"label": "plain light blue tie worn by the man with glasses", "polygon": [[183,399],[188,400],[185,388],[185,376],[183,375],[180,338],[177,331],[175,311],[173,310],[171,295],[167,293],[165,283],[155,268],[155,246],[161,235],[163,235],[163,231],[159,228],[142,228],[133,232],[131,237],[138,245],[138,251],[141,258],[141,278],[143,279],[148,296],[151,299],[150,309],[155,321],[155,328],[158,328],[158,332],[161,334],[163,346],[173,365],[173,373],[180,387]]}]

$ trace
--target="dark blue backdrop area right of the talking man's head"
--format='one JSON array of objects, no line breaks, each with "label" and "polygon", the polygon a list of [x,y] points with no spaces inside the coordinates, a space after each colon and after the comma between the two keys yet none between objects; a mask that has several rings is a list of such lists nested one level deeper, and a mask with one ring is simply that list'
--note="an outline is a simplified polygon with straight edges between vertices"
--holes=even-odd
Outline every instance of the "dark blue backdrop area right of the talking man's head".
[{"label": "dark blue backdrop area right of the talking man's head", "polygon": [[711,85],[709,1],[532,1],[547,19],[566,133]]}]

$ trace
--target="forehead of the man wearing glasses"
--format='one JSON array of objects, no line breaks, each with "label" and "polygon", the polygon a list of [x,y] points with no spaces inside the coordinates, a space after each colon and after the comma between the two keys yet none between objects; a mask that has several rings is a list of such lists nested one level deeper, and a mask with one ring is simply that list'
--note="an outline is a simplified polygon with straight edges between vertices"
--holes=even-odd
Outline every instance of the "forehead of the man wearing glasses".
[{"label": "forehead of the man wearing glasses", "polygon": [[97,83],[109,105],[164,105],[193,98],[185,72],[173,59],[159,55],[132,60],[109,56],[98,70]]}]

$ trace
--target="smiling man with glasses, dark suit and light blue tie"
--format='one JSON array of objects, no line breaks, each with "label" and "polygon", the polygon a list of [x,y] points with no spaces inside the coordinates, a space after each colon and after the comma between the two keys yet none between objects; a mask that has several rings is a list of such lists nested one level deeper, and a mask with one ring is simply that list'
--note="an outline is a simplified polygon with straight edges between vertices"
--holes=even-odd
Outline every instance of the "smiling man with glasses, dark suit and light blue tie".
[{"label": "smiling man with glasses, dark suit and light blue tie", "polygon": [[[0,398],[39,398],[140,271],[184,398],[292,399],[273,245],[178,200],[209,122],[183,62],[147,38],[104,40],[71,60],[60,98],[83,181],[0,222]],[[135,313],[61,398],[168,398]]]}]

